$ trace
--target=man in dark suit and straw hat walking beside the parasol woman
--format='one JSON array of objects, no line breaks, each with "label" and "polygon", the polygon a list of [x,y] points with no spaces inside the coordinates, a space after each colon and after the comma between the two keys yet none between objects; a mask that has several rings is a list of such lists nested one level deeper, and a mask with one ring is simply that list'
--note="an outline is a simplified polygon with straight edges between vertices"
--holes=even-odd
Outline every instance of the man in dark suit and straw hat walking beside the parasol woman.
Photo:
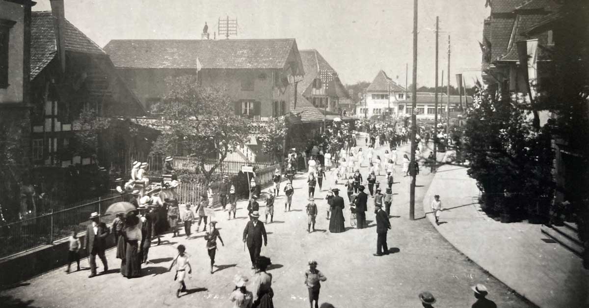
[{"label": "man in dark suit and straw hat walking beside the parasol woman", "polygon": [[105,223],[100,222],[100,215],[96,212],[90,215],[91,224],[88,224],[86,228],[86,240],[85,247],[88,251],[88,257],[90,258],[90,276],[92,278],[96,276],[96,255],[100,257],[102,265],[104,266],[104,273],[108,270],[107,258],[104,256],[104,250],[106,249],[106,238],[110,231]]}]

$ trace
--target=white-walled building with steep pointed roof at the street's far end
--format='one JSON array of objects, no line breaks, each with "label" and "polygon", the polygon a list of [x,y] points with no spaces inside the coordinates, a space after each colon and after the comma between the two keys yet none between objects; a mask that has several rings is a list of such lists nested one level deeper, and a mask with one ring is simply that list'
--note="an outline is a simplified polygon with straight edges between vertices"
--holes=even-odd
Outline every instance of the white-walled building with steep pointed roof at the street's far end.
[{"label": "white-walled building with steep pointed roof at the street's far end", "polygon": [[405,88],[398,85],[381,70],[366,88],[363,104],[356,107],[356,115],[359,118],[370,118],[373,115],[383,115],[390,112],[393,117],[396,117],[399,114],[398,105],[405,104],[406,99]]}]

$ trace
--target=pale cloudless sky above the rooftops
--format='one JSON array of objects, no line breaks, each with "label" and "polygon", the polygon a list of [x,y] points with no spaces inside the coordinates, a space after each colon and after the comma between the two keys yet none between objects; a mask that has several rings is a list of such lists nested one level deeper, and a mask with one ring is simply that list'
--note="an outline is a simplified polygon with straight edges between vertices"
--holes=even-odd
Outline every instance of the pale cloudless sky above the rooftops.
[{"label": "pale cloudless sky above the rooftops", "polygon": [[[462,72],[472,85],[481,67],[477,41],[489,15],[484,3],[419,0],[418,85],[434,85],[436,15],[444,84],[451,35],[451,84]],[[33,9],[49,11],[49,0],[37,0]],[[411,84],[412,0],[65,0],[65,17],[100,47],[111,39],[200,39],[205,21],[212,38],[219,18],[227,16],[239,24],[233,38],[295,38],[299,49],[317,49],[344,83],[371,82],[383,69],[405,86],[409,64]]]}]

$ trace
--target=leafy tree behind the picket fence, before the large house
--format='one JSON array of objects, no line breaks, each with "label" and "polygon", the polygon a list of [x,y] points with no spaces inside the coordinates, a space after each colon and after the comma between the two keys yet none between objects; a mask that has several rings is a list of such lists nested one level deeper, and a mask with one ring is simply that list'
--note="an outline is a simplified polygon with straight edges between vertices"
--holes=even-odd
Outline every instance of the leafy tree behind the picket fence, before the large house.
[{"label": "leafy tree behind the picket fence, before the large house", "polygon": [[247,140],[248,121],[234,114],[224,88],[200,87],[193,75],[168,77],[166,85],[163,101],[152,107],[162,119],[158,124],[163,132],[151,152],[197,158],[199,171],[210,182],[227,154]]}]

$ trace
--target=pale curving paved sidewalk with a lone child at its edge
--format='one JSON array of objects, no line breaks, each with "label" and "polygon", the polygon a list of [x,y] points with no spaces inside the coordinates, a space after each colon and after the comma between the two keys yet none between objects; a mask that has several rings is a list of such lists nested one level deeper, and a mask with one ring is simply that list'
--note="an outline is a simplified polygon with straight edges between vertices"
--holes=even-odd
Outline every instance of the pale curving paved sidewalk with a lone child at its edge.
[{"label": "pale curving paved sidewalk with a lone child at its edge", "polygon": [[[476,182],[467,168],[438,168],[423,209],[439,233],[456,249],[508,287],[542,308],[589,307],[589,271],[581,259],[557,243],[545,243],[540,225],[502,224],[481,211]],[[440,195],[439,226],[431,201]],[[492,291],[491,291],[492,292]]]}]

